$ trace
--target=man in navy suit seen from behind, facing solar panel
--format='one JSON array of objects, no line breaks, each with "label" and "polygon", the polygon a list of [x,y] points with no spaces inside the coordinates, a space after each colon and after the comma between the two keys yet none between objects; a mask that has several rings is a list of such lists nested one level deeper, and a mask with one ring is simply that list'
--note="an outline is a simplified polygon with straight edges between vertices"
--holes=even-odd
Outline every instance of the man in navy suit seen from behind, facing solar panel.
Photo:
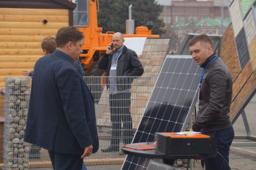
[{"label": "man in navy suit seen from behind, facing solar panel", "polygon": [[34,66],[25,141],[48,150],[53,169],[82,169],[97,152],[94,100],[74,66],[83,33],[67,26],[56,34],[56,50]]}]

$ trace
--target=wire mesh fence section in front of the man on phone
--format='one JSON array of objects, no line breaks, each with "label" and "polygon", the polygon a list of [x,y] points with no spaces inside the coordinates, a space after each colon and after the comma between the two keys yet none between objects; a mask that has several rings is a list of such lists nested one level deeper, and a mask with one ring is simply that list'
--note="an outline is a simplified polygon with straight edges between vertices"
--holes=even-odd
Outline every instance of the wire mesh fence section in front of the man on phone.
[{"label": "wire mesh fence section in front of the man on phone", "polygon": [[99,151],[85,161],[88,169],[100,169],[101,163],[105,164],[103,169],[121,169],[125,158],[121,146],[132,142],[157,80],[157,77],[111,77],[116,78],[116,83],[110,85],[109,78],[85,77],[94,96],[99,134]]}]

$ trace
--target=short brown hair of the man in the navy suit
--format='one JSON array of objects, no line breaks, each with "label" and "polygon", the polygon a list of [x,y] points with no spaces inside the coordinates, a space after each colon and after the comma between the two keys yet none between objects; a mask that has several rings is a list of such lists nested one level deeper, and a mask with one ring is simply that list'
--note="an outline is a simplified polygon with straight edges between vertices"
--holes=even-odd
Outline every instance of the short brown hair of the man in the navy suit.
[{"label": "short brown hair of the man in the navy suit", "polygon": [[57,47],[64,47],[67,42],[76,44],[83,38],[83,32],[79,31],[75,26],[64,26],[56,34],[56,45]]}]

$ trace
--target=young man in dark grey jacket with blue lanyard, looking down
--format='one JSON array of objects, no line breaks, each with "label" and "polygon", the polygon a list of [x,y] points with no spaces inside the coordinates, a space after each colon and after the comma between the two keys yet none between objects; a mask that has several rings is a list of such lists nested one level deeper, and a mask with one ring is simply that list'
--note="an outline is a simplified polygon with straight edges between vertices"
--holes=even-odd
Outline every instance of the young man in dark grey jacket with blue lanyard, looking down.
[{"label": "young man in dark grey jacket with blue lanyard, looking down", "polygon": [[206,170],[225,170],[228,169],[230,144],[234,138],[229,116],[232,78],[212,47],[211,38],[205,34],[195,36],[189,42],[192,58],[204,69],[200,79],[199,111],[191,131],[217,138],[217,157],[205,159]]}]

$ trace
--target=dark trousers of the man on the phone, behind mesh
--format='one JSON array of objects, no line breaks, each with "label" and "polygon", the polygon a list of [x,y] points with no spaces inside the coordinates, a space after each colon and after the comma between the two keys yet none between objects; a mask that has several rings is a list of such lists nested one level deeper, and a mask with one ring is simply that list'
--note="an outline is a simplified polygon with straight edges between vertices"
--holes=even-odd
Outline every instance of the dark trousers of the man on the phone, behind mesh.
[{"label": "dark trousers of the man on the phone, behind mesh", "polygon": [[112,137],[110,145],[119,146],[121,139],[121,121],[124,128],[124,144],[132,142],[132,116],[129,112],[131,93],[110,94],[110,118],[112,122]]}]

